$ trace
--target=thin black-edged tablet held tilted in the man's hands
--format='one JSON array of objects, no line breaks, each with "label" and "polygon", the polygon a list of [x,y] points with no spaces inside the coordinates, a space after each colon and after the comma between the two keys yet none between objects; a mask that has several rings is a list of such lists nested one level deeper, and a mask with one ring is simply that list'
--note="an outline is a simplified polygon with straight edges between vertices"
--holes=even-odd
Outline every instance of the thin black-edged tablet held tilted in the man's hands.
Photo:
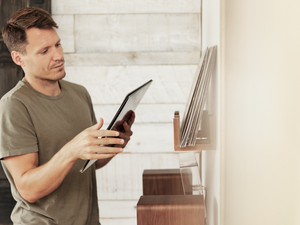
[{"label": "thin black-edged tablet held tilted in the man's hands", "polygon": [[[108,125],[107,130],[118,130],[120,132],[123,132],[123,123],[130,119],[131,113],[135,111],[136,107],[142,100],[151,83],[152,80],[149,80],[148,82],[144,83],[143,85],[126,95],[120,108],[118,109],[114,118]],[[83,173],[96,161],[97,159],[86,160],[80,172]]]}]

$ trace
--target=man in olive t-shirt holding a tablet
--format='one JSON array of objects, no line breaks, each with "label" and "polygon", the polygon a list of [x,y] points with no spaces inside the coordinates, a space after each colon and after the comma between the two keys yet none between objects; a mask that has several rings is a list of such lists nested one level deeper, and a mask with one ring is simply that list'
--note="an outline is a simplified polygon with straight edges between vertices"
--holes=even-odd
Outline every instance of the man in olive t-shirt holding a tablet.
[{"label": "man in olive t-shirt holding a tablet", "polygon": [[[124,132],[100,130],[85,88],[62,80],[63,49],[51,15],[15,12],[3,39],[25,77],[0,102],[0,159],[17,204],[14,224],[99,224],[95,169],[123,151]],[[103,138],[100,138],[103,137]],[[99,154],[101,153],[101,154]],[[98,159],[84,173],[84,160]]]}]

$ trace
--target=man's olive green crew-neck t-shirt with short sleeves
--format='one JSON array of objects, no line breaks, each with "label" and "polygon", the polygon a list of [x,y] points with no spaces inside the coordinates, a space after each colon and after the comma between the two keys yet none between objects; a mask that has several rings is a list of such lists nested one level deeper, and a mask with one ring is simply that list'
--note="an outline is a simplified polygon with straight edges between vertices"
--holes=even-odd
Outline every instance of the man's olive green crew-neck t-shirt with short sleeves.
[{"label": "man's olive green crew-neck t-shirt with short sleeves", "polygon": [[[48,162],[67,142],[96,123],[85,88],[59,81],[61,93],[50,97],[24,79],[0,101],[0,159],[37,152],[39,165]],[[19,194],[1,160],[17,201],[11,218],[22,225],[99,225],[95,166],[80,173],[77,160],[61,185],[35,203]]]}]

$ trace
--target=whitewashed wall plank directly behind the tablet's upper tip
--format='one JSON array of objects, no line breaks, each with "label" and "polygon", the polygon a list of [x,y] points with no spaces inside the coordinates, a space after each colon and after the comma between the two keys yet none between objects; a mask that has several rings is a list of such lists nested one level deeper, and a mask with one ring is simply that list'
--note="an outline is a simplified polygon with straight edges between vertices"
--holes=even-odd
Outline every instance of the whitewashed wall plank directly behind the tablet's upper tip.
[{"label": "whitewashed wall plank directly behind the tablet's upper tip", "polygon": [[196,65],[66,67],[66,80],[84,85],[94,104],[120,104],[125,95],[153,79],[142,103],[186,103]]}]

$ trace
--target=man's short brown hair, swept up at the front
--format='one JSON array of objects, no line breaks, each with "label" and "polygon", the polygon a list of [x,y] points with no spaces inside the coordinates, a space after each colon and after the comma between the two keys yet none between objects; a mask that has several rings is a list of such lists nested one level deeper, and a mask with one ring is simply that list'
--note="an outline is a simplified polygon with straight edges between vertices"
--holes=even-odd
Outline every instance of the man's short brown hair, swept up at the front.
[{"label": "man's short brown hair, swept up at the front", "polygon": [[40,8],[26,7],[16,11],[2,29],[3,41],[8,50],[26,54],[28,44],[26,30],[29,28],[58,28],[51,15]]}]

